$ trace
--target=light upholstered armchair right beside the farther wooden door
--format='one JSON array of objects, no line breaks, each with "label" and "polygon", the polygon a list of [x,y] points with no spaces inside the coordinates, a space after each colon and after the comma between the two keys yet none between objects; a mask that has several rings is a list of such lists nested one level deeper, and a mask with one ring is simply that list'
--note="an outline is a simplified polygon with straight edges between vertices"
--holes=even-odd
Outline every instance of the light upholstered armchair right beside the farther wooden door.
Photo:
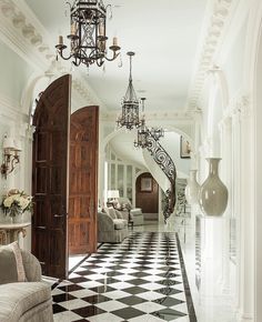
[{"label": "light upholstered armchair right beside the farther wooden door", "polygon": [[98,242],[119,243],[128,237],[128,221],[113,208],[98,212]]}]

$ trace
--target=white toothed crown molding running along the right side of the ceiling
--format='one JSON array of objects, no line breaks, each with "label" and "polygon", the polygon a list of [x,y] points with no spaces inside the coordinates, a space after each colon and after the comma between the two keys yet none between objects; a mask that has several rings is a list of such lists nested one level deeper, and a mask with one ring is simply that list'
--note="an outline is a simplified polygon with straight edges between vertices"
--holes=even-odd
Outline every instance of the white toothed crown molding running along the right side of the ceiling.
[{"label": "white toothed crown molding running along the right side of the ceiling", "polygon": [[224,33],[226,26],[232,18],[235,3],[240,0],[210,0],[209,19],[203,27],[203,40],[199,47],[199,58],[196,59],[196,68],[191,81],[189,99],[187,102],[187,111],[198,111],[199,100],[203,89],[206,72],[213,67],[214,57]]}]

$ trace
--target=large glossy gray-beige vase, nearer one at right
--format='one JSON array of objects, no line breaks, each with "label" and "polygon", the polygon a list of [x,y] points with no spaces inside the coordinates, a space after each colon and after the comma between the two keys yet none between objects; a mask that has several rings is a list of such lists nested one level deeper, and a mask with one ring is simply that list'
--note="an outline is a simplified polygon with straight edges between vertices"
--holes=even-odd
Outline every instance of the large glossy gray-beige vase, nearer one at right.
[{"label": "large glossy gray-beige vase, nearer one at right", "polygon": [[222,215],[228,205],[228,189],[219,178],[220,158],[208,158],[209,177],[200,187],[199,204],[205,215]]}]

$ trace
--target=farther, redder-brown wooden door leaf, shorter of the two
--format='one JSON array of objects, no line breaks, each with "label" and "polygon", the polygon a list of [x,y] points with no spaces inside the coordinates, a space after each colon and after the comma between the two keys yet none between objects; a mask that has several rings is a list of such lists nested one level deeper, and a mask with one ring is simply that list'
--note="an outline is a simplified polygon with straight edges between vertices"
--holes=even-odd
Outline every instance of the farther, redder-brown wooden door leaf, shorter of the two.
[{"label": "farther, redder-brown wooden door leaf, shorter of the two", "polygon": [[85,107],[70,120],[70,254],[97,250],[98,114],[98,107]]}]

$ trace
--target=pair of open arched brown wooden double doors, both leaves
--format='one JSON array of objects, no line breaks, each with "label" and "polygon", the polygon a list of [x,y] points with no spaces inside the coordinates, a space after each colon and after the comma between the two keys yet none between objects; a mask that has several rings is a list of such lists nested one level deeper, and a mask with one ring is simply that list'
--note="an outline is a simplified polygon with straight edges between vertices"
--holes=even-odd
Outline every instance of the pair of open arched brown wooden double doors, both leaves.
[{"label": "pair of open arched brown wooden double doors, both leaves", "polygon": [[53,81],[33,115],[32,253],[60,279],[69,252],[97,250],[98,107],[70,115],[70,76]]}]

